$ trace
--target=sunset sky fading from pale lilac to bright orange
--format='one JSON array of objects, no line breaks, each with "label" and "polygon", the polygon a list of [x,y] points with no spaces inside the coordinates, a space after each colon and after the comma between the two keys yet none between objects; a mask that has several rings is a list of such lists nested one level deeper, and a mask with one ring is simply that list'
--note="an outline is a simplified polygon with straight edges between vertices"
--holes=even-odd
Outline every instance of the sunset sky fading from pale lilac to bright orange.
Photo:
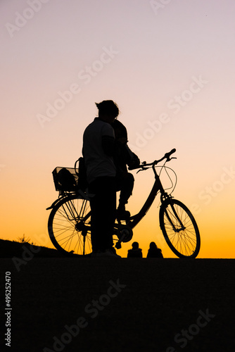
[{"label": "sunset sky fading from pale lilac to bright orange", "polygon": [[[235,258],[235,2],[1,0],[0,10],[1,238],[53,248],[51,172],[74,165],[95,102],[112,99],[141,161],[177,149],[173,195],[198,222],[198,258]],[[133,175],[132,214],[153,183],[151,170]],[[159,198],[133,241],[174,258],[158,213]]]}]

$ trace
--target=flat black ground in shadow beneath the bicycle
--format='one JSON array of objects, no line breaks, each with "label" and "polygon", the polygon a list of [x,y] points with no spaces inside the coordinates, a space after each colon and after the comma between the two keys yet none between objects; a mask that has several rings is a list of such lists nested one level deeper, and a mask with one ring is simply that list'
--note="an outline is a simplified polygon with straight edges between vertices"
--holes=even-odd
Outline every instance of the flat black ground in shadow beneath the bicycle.
[{"label": "flat black ground in shadow beneath the bicycle", "polygon": [[6,351],[235,350],[235,260],[33,257],[0,263],[1,341],[5,272],[11,272]]}]

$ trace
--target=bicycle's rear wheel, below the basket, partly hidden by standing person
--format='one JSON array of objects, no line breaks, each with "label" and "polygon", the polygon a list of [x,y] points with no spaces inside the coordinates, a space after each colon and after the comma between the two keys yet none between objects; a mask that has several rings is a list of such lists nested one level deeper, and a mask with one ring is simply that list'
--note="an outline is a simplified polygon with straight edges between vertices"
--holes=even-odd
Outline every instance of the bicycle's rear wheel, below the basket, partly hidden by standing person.
[{"label": "bicycle's rear wheel, below the basket, partly hidden by standing person", "polygon": [[49,237],[63,254],[91,253],[91,208],[87,199],[66,196],[56,203],[48,220]]}]

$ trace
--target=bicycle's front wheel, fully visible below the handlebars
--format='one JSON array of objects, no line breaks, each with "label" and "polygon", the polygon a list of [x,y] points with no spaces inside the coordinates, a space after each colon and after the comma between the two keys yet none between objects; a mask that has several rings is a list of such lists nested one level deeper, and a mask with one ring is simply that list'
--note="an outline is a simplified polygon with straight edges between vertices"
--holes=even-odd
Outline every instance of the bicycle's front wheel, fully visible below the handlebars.
[{"label": "bicycle's front wheel, fully visible below the handlebars", "polygon": [[176,199],[167,199],[160,207],[160,228],[168,246],[179,258],[196,258],[201,239],[190,210]]}]

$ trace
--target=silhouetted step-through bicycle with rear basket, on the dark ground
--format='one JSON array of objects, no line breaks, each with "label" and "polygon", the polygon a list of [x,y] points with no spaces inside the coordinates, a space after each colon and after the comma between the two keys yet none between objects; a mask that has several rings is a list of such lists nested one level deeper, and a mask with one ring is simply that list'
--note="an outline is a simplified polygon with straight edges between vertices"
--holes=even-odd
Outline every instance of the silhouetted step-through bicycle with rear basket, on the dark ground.
[{"label": "silhouetted step-through bicycle with rear basket, on the dark ground", "polygon": [[[175,151],[176,149],[172,149],[158,161],[152,163],[144,161],[137,168],[132,169],[139,169],[139,172],[152,168],[155,182],[139,213],[125,220],[125,223],[123,220],[116,219],[113,230],[116,249],[121,248],[122,242],[128,242],[132,239],[134,227],[144,218],[153,204],[155,196],[160,192],[159,222],[167,245],[179,258],[196,258],[198,256],[201,239],[196,220],[184,203],[174,199],[171,194],[167,194],[160,181],[160,172],[163,168],[167,168],[165,163],[173,159],[171,155]],[[165,163],[160,166],[161,170],[158,175],[155,168],[164,159],[166,159]],[[52,209],[48,221],[49,237],[56,249],[65,255],[91,256],[91,209],[89,206],[91,195],[79,187],[76,163],[74,169],[67,168],[67,170],[70,170],[77,178],[77,189],[69,191],[60,189],[56,180],[56,172],[58,172],[56,169],[61,168],[53,170],[56,190],[60,190],[61,193],[59,198],[47,208]]]}]

